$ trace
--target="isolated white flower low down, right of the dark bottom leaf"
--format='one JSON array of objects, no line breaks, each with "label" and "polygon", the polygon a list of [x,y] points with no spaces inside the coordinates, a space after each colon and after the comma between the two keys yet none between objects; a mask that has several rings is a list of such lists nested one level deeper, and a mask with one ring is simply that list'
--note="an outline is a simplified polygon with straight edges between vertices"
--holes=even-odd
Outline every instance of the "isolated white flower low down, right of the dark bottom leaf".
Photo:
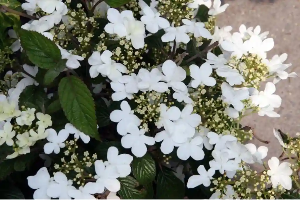
[{"label": "isolated white flower low down, right of the dark bottom leaf", "polygon": [[215,170],[210,168],[206,171],[205,167],[203,165],[200,165],[197,168],[197,172],[199,175],[192,175],[188,181],[187,181],[187,188],[194,188],[201,184],[203,184],[205,187],[209,187],[211,184],[212,176],[215,173]]}]

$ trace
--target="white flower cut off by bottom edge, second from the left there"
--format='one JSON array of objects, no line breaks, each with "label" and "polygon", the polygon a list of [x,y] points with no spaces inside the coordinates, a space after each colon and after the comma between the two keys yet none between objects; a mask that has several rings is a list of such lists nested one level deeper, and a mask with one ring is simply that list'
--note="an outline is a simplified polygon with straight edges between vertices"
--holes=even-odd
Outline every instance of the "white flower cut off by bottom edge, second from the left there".
[{"label": "white flower cut off by bottom edge, second from the left there", "polygon": [[56,172],[53,178],[55,182],[49,185],[47,195],[52,198],[71,199],[68,195],[68,191],[76,190],[76,188],[72,186],[73,181],[68,180],[66,175],[62,172]]}]

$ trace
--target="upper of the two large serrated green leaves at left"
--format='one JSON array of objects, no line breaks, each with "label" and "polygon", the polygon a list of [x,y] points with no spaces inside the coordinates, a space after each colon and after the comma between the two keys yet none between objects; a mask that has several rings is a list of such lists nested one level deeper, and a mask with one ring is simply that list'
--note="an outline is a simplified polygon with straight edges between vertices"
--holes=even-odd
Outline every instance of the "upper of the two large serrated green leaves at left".
[{"label": "upper of the two large serrated green leaves at left", "polygon": [[61,53],[56,44],[36,31],[21,29],[21,45],[29,60],[44,69],[54,69],[61,64]]}]

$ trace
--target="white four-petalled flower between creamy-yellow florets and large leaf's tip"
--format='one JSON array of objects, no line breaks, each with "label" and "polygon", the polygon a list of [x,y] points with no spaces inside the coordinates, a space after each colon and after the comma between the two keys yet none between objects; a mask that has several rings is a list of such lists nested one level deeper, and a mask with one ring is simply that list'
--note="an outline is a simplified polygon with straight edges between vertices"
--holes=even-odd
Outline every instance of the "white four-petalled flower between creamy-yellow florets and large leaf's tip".
[{"label": "white four-petalled flower between creamy-yellow florets and large leaf's tip", "polygon": [[48,133],[47,140],[49,142],[44,145],[45,154],[51,154],[52,152],[58,154],[60,149],[65,147],[64,141],[68,138],[69,133],[67,130],[62,129],[57,134],[52,128],[47,129],[46,132]]}]

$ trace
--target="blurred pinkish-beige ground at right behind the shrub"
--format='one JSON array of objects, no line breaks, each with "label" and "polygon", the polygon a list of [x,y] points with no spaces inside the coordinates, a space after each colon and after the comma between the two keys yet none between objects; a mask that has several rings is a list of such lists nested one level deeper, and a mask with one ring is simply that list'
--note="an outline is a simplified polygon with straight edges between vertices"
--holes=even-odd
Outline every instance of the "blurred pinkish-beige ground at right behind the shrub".
[{"label": "blurred pinkish-beige ground at right behind the shrub", "polygon": [[[274,48],[268,52],[271,59],[275,54],[287,53],[285,63],[292,63],[287,72],[295,71],[300,76],[300,0],[223,0],[228,3],[227,10],[217,16],[217,25],[231,25],[232,31],[238,31],[241,24],[247,28],[261,26],[261,32],[269,31],[268,37],[274,39]],[[268,81],[273,81],[269,79]],[[264,84],[261,87],[264,90]],[[280,118],[269,118],[253,114],[243,120],[244,126],[254,128],[261,139],[269,140],[265,145],[256,139],[256,145],[269,148],[268,158],[280,156],[282,148],[273,134],[273,127],[283,133],[295,136],[300,132],[300,78],[282,80],[276,84],[275,94],[282,98],[281,107],[275,109]]]}]

